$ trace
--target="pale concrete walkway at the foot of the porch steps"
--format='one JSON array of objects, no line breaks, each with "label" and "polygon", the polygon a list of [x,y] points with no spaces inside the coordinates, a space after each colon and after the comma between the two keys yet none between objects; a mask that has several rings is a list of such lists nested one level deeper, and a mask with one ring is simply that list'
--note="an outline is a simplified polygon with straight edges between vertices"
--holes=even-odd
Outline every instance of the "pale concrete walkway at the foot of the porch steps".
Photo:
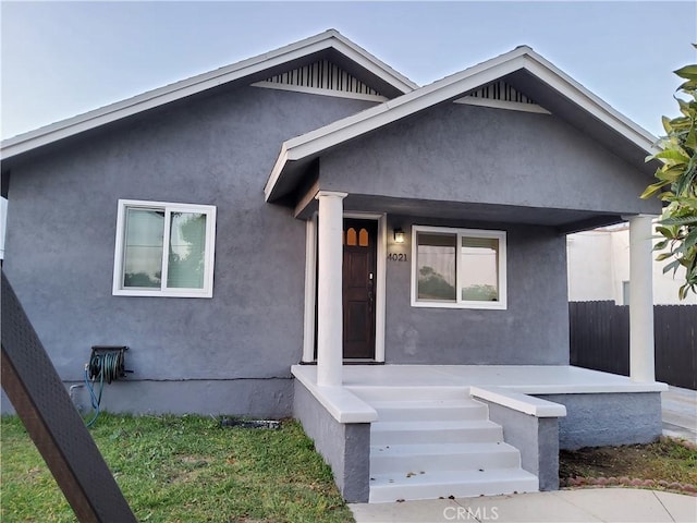
[{"label": "pale concrete walkway at the foot of the porch steps", "polygon": [[632,488],[354,503],[350,507],[356,523],[697,522],[697,497]]}]

